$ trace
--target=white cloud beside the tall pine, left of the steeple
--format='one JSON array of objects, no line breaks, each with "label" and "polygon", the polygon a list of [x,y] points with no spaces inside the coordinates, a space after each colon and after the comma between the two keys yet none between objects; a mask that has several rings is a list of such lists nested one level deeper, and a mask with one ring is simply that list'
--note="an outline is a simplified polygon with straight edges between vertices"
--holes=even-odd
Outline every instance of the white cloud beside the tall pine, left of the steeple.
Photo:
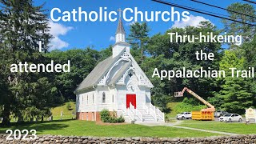
[{"label": "white cloud beside the tall pine, left of the steeple", "polygon": [[50,34],[54,36],[54,38],[50,41],[50,50],[62,49],[69,46],[69,43],[62,41],[59,36],[66,35],[67,32],[73,30],[74,28],[71,26],[63,26],[62,24],[55,23],[53,21],[49,21],[50,26]]}]

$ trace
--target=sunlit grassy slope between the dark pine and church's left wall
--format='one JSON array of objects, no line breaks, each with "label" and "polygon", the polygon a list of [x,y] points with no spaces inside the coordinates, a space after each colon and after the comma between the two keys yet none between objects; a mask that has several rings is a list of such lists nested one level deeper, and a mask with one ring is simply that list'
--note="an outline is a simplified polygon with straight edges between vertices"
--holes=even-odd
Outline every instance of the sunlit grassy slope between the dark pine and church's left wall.
[{"label": "sunlit grassy slope between the dark pine and church's left wall", "polygon": [[[66,102],[64,105],[55,107],[52,110],[50,110],[52,112],[54,120],[60,120],[61,118],[62,119],[75,118],[75,115],[72,115],[72,113],[75,114],[75,102],[70,102],[70,106],[71,106],[70,110],[67,110],[67,108],[66,108],[66,105],[68,103],[69,102]],[[61,117],[62,111],[63,111],[63,116]]]}]

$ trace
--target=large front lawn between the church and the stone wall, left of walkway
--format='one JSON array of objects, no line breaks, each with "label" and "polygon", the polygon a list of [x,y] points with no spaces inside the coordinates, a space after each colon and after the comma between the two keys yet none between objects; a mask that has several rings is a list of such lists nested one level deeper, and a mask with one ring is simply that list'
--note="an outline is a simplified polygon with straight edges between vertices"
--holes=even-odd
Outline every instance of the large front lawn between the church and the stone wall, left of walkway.
[{"label": "large front lawn between the church and the stone wall, left of walkway", "polygon": [[102,137],[206,137],[218,134],[205,133],[194,130],[183,130],[167,126],[141,126],[141,125],[118,125],[101,126],[95,122],[78,120],[63,120],[53,122],[34,122],[25,124],[13,124],[10,127],[0,127],[0,133],[5,133],[7,129],[27,129],[37,130],[38,134],[56,135],[77,135],[77,136],[102,136]]}]

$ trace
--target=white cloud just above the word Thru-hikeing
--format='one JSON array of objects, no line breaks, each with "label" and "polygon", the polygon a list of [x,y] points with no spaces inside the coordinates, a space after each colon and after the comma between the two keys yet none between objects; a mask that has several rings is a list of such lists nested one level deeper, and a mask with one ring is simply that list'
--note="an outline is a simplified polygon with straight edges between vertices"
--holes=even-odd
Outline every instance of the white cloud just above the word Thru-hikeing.
[{"label": "white cloud just above the word Thru-hikeing", "polygon": [[206,19],[206,18],[203,18],[201,16],[194,16],[192,14],[190,14],[190,20],[184,22],[184,21],[175,21],[174,22],[174,25],[171,26],[171,28],[174,28],[174,27],[178,27],[178,28],[184,28],[186,26],[199,26],[200,25],[200,22],[203,22],[203,21],[208,21],[210,22],[209,19]]}]

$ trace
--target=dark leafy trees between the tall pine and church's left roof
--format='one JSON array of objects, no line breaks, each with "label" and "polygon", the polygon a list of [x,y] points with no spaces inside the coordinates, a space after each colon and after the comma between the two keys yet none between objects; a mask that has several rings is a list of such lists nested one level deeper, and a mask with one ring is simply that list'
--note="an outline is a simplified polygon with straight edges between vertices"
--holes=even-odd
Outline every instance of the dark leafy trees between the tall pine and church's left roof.
[{"label": "dark leafy trees between the tall pine and church's left roof", "polygon": [[[107,54],[102,54],[104,57]],[[66,101],[75,100],[74,90],[82,82],[94,66],[102,59],[102,56],[97,50],[92,50],[90,47],[85,50],[75,49],[59,51],[54,50],[46,54],[47,58],[61,64],[65,64],[70,60],[70,73],[58,73],[54,76],[56,87]]]}]

